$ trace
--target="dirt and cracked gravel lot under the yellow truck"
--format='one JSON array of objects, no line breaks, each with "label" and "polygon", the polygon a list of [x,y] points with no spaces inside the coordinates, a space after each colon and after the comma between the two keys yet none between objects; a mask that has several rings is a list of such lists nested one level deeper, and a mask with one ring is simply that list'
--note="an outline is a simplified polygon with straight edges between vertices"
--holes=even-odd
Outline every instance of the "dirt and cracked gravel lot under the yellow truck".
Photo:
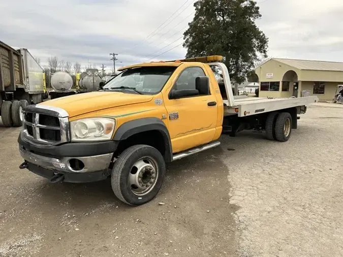
[{"label": "dirt and cracked gravel lot under the yellow truck", "polygon": [[49,184],[19,170],[19,129],[0,123],[0,256],[342,256],[340,107],[309,107],[286,143],[223,136],[169,165],[140,207],[110,181]]}]

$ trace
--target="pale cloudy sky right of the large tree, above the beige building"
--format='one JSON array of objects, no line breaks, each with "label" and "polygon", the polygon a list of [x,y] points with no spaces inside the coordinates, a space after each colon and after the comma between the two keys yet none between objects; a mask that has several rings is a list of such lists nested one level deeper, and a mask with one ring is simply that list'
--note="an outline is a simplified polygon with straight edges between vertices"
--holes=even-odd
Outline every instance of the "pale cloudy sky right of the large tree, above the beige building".
[{"label": "pale cloudy sky right of the large tree, above the beige building", "polygon": [[273,57],[342,61],[343,1],[262,0],[258,20]]}]

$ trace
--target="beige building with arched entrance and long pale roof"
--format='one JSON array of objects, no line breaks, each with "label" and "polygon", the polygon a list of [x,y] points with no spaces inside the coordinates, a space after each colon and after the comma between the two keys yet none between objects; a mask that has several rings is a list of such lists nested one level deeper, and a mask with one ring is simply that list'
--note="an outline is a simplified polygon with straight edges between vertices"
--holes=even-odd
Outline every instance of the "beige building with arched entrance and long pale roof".
[{"label": "beige building with arched entrance and long pale roof", "polygon": [[249,81],[260,82],[260,97],[301,97],[303,90],[331,101],[343,84],[343,62],[271,58]]}]

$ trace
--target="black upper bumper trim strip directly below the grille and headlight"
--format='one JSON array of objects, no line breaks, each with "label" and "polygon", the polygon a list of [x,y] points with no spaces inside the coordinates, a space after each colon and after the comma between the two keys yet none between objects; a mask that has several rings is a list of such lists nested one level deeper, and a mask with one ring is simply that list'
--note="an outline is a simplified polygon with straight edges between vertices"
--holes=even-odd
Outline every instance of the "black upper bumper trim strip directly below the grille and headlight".
[{"label": "black upper bumper trim strip directly below the grille and headlight", "polygon": [[80,142],[66,143],[63,145],[54,146],[38,146],[29,143],[24,138],[24,133],[20,132],[18,143],[24,146],[27,150],[37,154],[50,155],[56,157],[84,157],[112,153],[117,149],[117,141],[105,142]]}]

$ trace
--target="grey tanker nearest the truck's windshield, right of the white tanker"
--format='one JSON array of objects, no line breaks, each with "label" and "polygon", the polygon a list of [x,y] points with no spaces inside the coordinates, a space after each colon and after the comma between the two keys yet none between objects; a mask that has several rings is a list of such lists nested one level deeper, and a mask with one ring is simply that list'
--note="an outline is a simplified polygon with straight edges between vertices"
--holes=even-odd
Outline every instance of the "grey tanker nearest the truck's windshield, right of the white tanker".
[{"label": "grey tanker nearest the truck's windshield, right of the white tanker", "polygon": [[91,92],[100,89],[101,77],[99,70],[87,69],[86,72],[81,73],[78,83],[80,93]]}]

